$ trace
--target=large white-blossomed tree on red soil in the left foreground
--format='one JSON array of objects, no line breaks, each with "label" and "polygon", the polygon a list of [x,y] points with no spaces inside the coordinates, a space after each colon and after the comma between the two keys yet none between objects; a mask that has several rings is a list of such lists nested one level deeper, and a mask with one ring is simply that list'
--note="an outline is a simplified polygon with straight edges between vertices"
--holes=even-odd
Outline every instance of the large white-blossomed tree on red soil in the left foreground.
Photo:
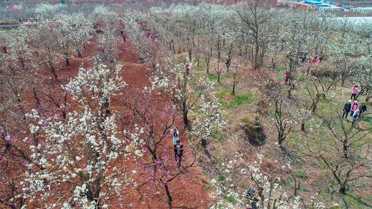
[{"label": "large white-blossomed tree on red soil in the left foreground", "polygon": [[131,184],[123,172],[131,142],[118,134],[116,113],[107,111],[111,97],[125,87],[120,70],[121,66],[111,69],[99,62],[89,69],[81,67],[63,87],[79,109],[70,111],[65,120],[40,118],[30,125],[31,132],[43,131],[43,142],[30,146],[30,172],[22,182],[30,203],[38,201],[46,208],[104,208]]}]

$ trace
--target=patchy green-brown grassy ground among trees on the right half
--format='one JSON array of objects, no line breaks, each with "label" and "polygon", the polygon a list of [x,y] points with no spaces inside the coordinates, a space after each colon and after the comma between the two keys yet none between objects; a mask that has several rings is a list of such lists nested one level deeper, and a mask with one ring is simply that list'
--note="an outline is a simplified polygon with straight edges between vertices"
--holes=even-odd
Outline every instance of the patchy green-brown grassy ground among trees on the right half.
[{"label": "patchy green-brown grassy ground among trees on the right half", "polygon": [[[211,67],[213,69],[213,67]],[[217,74],[210,71],[210,74],[207,75],[205,72],[205,63],[200,62],[200,65],[196,69],[196,74],[205,76],[207,79],[216,83],[214,87],[214,94],[220,101],[221,107],[225,112],[225,120],[229,122],[228,127],[223,133],[223,136],[234,133],[237,135],[240,140],[245,141],[244,134],[241,131],[242,118],[245,116],[256,113],[257,109],[260,109],[259,98],[261,96],[260,89],[261,81],[260,76],[265,74],[266,77],[271,77],[278,81],[278,83],[283,83],[283,74],[285,69],[278,67],[276,72],[269,71],[268,69],[257,72],[252,72],[246,67],[242,67],[242,78],[240,79],[241,83],[236,89],[236,95],[231,94],[231,83],[232,76],[231,73],[225,73],[220,77],[220,84],[217,83]],[[243,78],[244,77],[244,78]],[[341,113],[343,104],[349,100],[350,91],[352,83],[346,83],[346,87],[340,87],[338,85],[335,89],[332,90],[333,97],[330,100],[322,100],[318,104],[317,113],[322,115],[322,118],[336,118],[337,111]],[[293,91],[293,98],[300,100],[309,100],[309,96],[303,88],[296,88]],[[361,99],[364,100],[362,96]],[[371,107],[371,103],[367,104],[367,107]],[[272,111],[269,109],[269,111]],[[285,141],[285,146],[295,153],[298,157],[298,160],[294,163],[294,172],[296,173],[297,179],[301,182],[300,184],[300,193],[302,197],[311,197],[315,192],[319,192],[322,197],[322,201],[331,203],[333,208],[344,208],[342,200],[337,196],[337,184],[332,180],[331,174],[327,167],[322,164],[316,157],[312,156],[312,153],[309,150],[316,150],[318,142],[327,147],[334,147],[335,139],[329,134],[329,129],[322,123],[322,118],[314,116],[314,120],[309,120],[306,123],[308,130],[311,130],[307,133],[300,131],[300,127],[296,127],[289,134],[288,139]],[[261,150],[264,151],[265,157],[268,159],[275,160],[280,153],[280,149],[275,145],[276,143],[276,129],[273,128],[272,123],[270,122],[269,117],[262,118],[265,133],[267,134],[267,142]],[[345,126],[351,126],[351,120],[344,120]],[[341,130],[340,123],[333,122],[335,129]],[[370,129],[372,126],[372,116],[367,115],[360,122],[358,129]],[[214,137],[215,139],[220,138],[218,136]],[[366,142],[369,146],[372,146],[372,134],[369,134],[365,137]],[[234,151],[238,149],[238,146],[242,146],[254,152],[253,146],[249,143],[244,142],[240,145],[236,144],[234,140],[215,140],[215,144],[212,144],[214,147],[214,155],[216,157],[223,158],[224,153]],[[371,155],[368,154],[367,155]],[[369,156],[371,157],[371,156]],[[287,181],[287,187],[291,188],[293,186],[293,180],[289,179]],[[371,190],[369,187],[362,187],[359,190],[358,196],[364,197],[364,201],[372,201],[372,197],[369,196]],[[367,194],[367,195],[366,195]],[[350,192],[349,195],[357,195],[353,192]],[[344,196],[349,203],[351,208],[366,208],[366,204],[360,201],[360,199],[355,199],[351,196]],[[227,201],[232,201],[227,199]]]}]

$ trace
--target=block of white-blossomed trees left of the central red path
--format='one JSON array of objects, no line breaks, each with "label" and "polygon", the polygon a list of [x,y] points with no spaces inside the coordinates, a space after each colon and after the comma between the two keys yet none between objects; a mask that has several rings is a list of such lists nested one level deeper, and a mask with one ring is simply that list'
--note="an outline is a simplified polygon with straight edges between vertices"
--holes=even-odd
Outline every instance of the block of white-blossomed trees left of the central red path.
[{"label": "block of white-blossomed trees left of the central red path", "polygon": [[[112,109],[126,86],[116,64],[118,15],[103,6],[87,14],[41,4],[34,12],[34,26],[0,32],[0,205],[107,207],[134,184],[116,162],[142,155]],[[91,67],[67,83],[61,69],[86,58],[93,36]]]}]

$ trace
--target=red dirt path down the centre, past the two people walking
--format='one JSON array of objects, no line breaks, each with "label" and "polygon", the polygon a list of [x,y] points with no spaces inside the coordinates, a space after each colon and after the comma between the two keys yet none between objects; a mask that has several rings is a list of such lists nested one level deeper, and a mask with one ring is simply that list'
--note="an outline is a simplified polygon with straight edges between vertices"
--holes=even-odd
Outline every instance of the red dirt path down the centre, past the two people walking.
[{"label": "red dirt path down the centre, past the two people walking", "polygon": [[[118,60],[125,63],[123,66],[123,78],[127,83],[125,91],[133,91],[136,88],[149,86],[149,77],[152,74],[152,68],[147,65],[142,65],[138,62],[138,54],[136,54],[129,42],[121,43],[119,46],[120,52]],[[152,105],[169,104],[172,101],[165,95],[158,95],[152,99]],[[176,126],[182,126],[182,118],[177,118]],[[183,132],[183,130],[180,130]],[[180,138],[186,138],[185,135],[180,135]],[[162,144],[162,151],[172,151],[172,134]],[[187,148],[187,142],[183,142]],[[149,160],[149,159],[147,159]],[[141,162],[137,162],[137,164]],[[129,165],[128,165],[129,166]],[[205,183],[201,179],[199,168],[190,170],[191,175],[180,176],[169,184],[170,192],[173,197],[174,208],[209,208],[209,194],[205,190]],[[140,176],[145,174],[140,174]],[[138,178],[138,184],[147,181],[147,178]],[[148,184],[141,188],[143,198],[138,192],[131,192],[129,199],[132,200],[132,208],[167,208],[167,197],[162,186]]]}]

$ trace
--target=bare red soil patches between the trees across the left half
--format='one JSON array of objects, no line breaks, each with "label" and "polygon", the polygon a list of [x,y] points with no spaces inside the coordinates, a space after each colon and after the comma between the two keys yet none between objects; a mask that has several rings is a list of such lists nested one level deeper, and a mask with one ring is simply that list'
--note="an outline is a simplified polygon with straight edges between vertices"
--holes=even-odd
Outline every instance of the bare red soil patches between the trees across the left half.
[{"label": "bare red soil patches between the trees across the left half", "polygon": [[[59,76],[59,80],[54,82],[52,78],[52,74],[50,72],[42,72],[38,75],[38,78],[35,79],[37,82],[37,88],[40,91],[44,91],[45,93],[51,89],[52,95],[59,98],[61,95],[59,86],[68,83],[68,80],[74,78],[78,71],[79,67],[83,64],[84,67],[92,65],[92,57],[98,54],[96,49],[96,36],[92,38],[90,43],[87,45],[87,48],[82,53],[82,58],[74,58],[70,59],[70,66],[63,67],[63,69],[57,72]],[[117,58],[118,62],[123,62],[125,65],[123,66],[122,76],[127,83],[127,87],[125,88],[124,94],[131,95],[134,94],[134,90],[136,88],[141,88],[145,86],[149,86],[149,76],[152,74],[152,69],[146,65],[141,65],[138,63],[138,54],[136,54],[130,45],[129,42],[121,43],[119,45],[119,54]],[[61,63],[64,65],[64,63]],[[54,115],[55,113],[60,113],[58,109],[52,107],[52,105],[45,105],[46,97],[43,94],[39,94],[41,104],[41,115]],[[26,111],[30,111],[30,109],[35,107],[36,101],[32,96],[32,90],[27,89],[25,94],[23,94],[23,98],[27,104],[28,109]],[[154,98],[149,98],[150,105],[154,105],[156,107],[162,107],[165,104],[172,104],[172,101],[165,96],[165,94],[158,94],[154,96]],[[73,110],[76,109],[76,104],[68,98],[68,109]],[[117,111],[124,111],[123,104],[121,104],[120,96],[116,96],[112,99],[112,109],[116,109]],[[182,126],[182,118],[177,118],[176,126]],[[183,130],[180,130],[181,135],[180,138],[185,139],[186,135],[184,134]],[[21,138],[21,137],[19,137]],[[169,133],[169,136],[165,141],[164,144],[161,144],[161,152],[173,152],[172,151],[172,134]],[[17,142],[17,146],[21,148],[23,146],[27,147],[30,144],[25,144],[21,142]],[[187,148],[187,143],[183,142],[185,147]],[[25,148],[28,150],[28,148]],[[145,155],[146,156],[146,155]],[[123,160],[118,160],[116,166],[121,168],[124,173],[131,173],[131,171],[135,168],[141,167],[145,161],[149,161],[149,157],[143,157],[140,161],[125,161],[123,164]],[[187,156],[185,159],[187,160]],[[10,168],[10,176],[14,179],[19,179],[21,175],[25,172],[23,170],[23,166],[20,166],[21,160],[18,159],[10,159],[8,162],[11,165],[8,165]],[[7,162],[7,163],[8,163]],[[1,166],[5,166],[2,164]],[[7,167],[8,167],[7,166]],[[9,168],[8,167],[8,168]],[[5,169],[5,168],[4,168]],[[141,170],[137,170],[137,175],[134,177],[137,184],[141,185],[143,182],[148,180],[148,176],[146,173],[141,172]],[[209,195],[208,192],[204,189],[205,183],[201,179],[201,173],[199,168],[192,168],[187,172],[187,175],[180,175],[174,181],[169,184],[169,189],[173,197],[173,206],[177,208],[208,208],[209,206]],[[9,194],[9,182],[8,178],[0,179],[0,191],[6,194]],[[19,186],[19,182],[16,182],[17,190],[21,190]],[[142,194],[142,198],[140,195]],[[113,197],[111,208],[167,208],[167,196],[165,195],[165,189],[161,185],[156,184],[146,184],[143,186],[138,192],[136,188],[127,188],[123,190],[123,193],[119,195],[119,197]],[[3,196],[3,195],[1,195]],[[127,203],[132,203],[132,206],[128,206]],[[37,203],[36,203],[37,204]],[[0,204],[0,208],[3,206]],[[31,208],[39,208],[40,206],[35,205]]]}]

